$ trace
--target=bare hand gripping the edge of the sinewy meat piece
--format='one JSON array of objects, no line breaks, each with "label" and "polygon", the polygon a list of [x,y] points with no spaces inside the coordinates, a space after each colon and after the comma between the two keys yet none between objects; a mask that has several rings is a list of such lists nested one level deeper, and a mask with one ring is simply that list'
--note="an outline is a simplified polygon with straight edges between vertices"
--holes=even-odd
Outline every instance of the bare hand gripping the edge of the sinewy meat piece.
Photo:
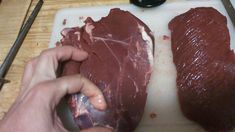
[{"label": "bare hand gripping the edge of the sinewy meat piece", "polygon": [[[83,61],[88,54],[71,46],[43,51],[25,67],[21,90],[16,101],[0,121],[1,132],[67,132],[55,106],[66,94],[80,91],[92,105],[105,110],[103,94],[92,82],[81,75],[56,78],[59,62]],[[111,132],[110,129],[94,127],[81,132]]]}]

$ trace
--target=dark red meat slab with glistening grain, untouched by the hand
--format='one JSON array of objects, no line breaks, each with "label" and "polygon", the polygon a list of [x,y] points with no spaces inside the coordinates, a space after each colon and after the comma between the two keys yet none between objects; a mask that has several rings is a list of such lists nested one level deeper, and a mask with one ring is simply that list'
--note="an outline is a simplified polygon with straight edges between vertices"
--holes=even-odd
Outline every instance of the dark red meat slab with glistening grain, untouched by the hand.
[{"label": "dark red meat slab with glistening grain, untouched by the hand", "polygon": [[226,17],[199,7],[169,23],[183,114],[207,131],[235,126],[235,55]]}]

